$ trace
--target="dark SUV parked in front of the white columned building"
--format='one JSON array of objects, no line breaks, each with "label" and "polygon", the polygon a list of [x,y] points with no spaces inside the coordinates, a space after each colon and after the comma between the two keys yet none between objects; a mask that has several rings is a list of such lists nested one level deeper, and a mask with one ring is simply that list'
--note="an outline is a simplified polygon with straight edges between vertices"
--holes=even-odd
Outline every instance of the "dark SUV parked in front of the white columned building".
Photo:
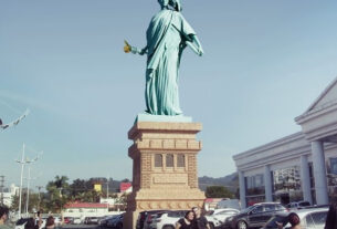
[{"label": "dark SUV parked in front of the white columned building", "polygon": [[228,218],[227,226],[232,229],[261,228],[276,212],[287,211],[277,202],[261,202],[243,209],[238,215]]}]

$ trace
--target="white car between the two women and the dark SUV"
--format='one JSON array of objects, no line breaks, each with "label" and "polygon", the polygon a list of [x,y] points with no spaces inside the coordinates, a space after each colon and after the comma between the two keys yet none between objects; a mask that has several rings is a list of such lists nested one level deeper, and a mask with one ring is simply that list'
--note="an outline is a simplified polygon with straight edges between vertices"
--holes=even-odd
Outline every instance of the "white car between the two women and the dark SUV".
[{"label": "white car between the two women and the dark SUV", "polygon": [[211,210],[206,215],[207,220],[210,223],[210,228],[218,228],[219,226],[223,225],[225,219],[239,214],[240,211],[232,208],[225,209],[215,209]]}]

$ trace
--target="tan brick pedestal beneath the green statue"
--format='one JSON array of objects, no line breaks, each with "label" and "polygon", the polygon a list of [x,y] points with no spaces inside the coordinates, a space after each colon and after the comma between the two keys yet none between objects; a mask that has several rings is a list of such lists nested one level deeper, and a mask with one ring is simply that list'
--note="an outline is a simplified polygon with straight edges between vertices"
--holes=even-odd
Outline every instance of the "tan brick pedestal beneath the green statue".
[{"label": "tan brick pedestal beneath the green statue", "polygon": [[124,229],[135,229],[138,214],[156,209],[202,207],[198,188],[196,135],[200,123],[137,122],[128,133],[133,165],[133,192],[127,199]]}]

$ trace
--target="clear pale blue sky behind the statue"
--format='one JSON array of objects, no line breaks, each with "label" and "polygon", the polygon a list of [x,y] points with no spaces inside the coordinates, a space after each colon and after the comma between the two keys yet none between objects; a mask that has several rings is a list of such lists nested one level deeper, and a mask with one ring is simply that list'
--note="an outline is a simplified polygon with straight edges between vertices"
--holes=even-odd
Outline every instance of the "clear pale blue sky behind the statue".
[{"label": "clear pale blue sky behind the statue", "polygon": [[[180,103],[203,124],[199,176],[235,170],[232,155],[301,131],[301,115],[337,75],[337,2],[182,1],[204,56],[183,53]],[[127,131],[145,108],[146,43],[156,0],[1,0],[0,117],[31,114],[0,132],[0,175],[19,183],[22,143],[33,186],[131,177]]]}]

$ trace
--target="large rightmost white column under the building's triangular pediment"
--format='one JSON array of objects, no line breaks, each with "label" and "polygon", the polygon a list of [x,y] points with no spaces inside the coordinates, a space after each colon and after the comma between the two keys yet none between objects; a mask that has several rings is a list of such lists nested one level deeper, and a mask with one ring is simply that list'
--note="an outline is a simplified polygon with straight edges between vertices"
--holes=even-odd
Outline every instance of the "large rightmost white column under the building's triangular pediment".
[{"label": "large rightmost white column under the building's triangular pediment", "polygon": [[326,167],[324,145],[320,140],[312,142],[313,166],[315,178],[315,191],[317,205],[328,204],[328,188],[326,181]]}]

